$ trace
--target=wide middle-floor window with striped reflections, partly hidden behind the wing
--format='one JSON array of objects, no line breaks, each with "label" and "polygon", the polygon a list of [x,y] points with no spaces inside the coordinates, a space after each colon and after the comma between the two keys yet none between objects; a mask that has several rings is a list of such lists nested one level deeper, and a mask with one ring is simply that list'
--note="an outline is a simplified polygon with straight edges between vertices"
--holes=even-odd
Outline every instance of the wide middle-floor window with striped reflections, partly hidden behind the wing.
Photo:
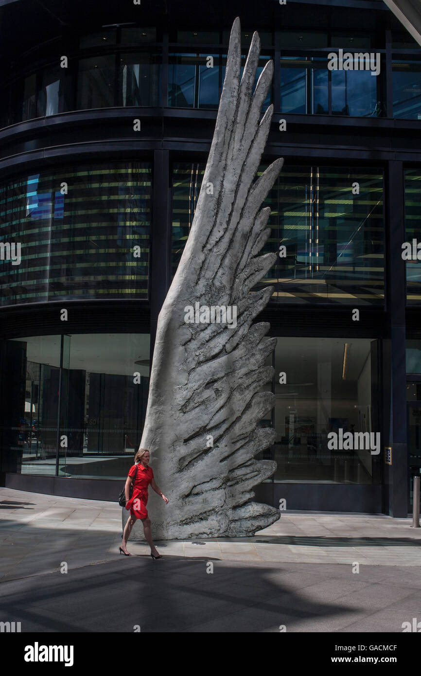
[{"label": "wide middle-floor window with striped reflections, partly hidden behind the wing", "polygon": [[[197,162],[173,167],[173,274],[204,170]],[[262,253],[279,256],[255,289],[273,285],[272,300],[282,303],[384,304],[382,170],[284,165],[264,206],[271,208],[272,235]]]}]

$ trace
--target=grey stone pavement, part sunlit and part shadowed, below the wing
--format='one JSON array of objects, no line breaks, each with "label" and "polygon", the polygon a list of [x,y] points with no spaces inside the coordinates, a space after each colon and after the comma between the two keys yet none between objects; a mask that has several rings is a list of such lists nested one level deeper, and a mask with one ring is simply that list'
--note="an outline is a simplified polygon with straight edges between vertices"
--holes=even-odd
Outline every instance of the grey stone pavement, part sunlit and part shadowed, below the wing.
[{"label": "grey stone pavement, part sunlit and part shadowed, below the wing", "polygon": [[117,503],[3,488],[0,519],[0,619],[22,631],[401,632],[421,621],[421,529],[409,518],[284,512],[252,538],[157,542],[156,561],[142,542],[118,554]]}]

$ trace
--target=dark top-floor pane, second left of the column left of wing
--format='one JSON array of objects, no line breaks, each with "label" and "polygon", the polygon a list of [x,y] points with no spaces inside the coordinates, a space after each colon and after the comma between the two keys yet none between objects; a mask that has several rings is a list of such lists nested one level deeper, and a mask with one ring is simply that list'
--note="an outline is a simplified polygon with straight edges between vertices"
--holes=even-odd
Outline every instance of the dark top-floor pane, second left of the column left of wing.
[{"label": "dark top-floor pane, second left of the column left of wing", "polygon": [[80,59],[78,110],[114,105],[115,60],[113,55]]}]

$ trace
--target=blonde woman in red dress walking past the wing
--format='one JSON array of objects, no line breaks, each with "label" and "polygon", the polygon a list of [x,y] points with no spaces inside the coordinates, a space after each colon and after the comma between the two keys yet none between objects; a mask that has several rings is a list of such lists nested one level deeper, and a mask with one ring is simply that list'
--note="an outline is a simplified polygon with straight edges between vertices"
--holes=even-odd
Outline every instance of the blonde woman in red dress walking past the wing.
[{"label": "blonde woman in red dress walking past the wing", "polygon": [[[152,468],[149,467],[149,451],[145,448],[139,448],[139,451],[134,456],[134,465],[130,467],[128,477],[126,479],[126,486],[124,491],[126,493],[126,510],[130,510],[130,516],[128,517],[126,526],[124,527],[122,546],[120,547],[120,554],[125,554],[126,556],[132,556],[127,551],[127,541],[132,531],[132,527],[137,518],[140,518],[143,523],[143,530],[145,531],[145,537],[151,548],[151,557],[152,558],[162,558],[162,555],[159,554],[157,548],[153,544],[152,535],[151,535],[151,519],[147,514],[147,499],[148,499],[148,486],[149,483],[151,487],[162,497],[162,500],[165,500],[168,504],[168,498],[164,496],[159,487],[155,483],[153,478]],[[137,470],[137,471],[136,471]],[[130,484],[132,483],[133,477],[136,477],[133,484],[133,493],[132,497],[129,498]]]}]

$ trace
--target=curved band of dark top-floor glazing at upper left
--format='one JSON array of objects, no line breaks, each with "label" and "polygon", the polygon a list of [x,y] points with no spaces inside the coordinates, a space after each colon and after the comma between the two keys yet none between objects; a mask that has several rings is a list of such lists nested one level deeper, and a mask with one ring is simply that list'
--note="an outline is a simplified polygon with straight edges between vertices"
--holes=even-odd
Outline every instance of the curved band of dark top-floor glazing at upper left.
[{"label": "curved band of dark top-floor glazing at upper left", "polygon": [[104,29],[73,45],[67,68],[57,57],[16,66],[20,77],[1,86],[0,125],[74,110],[162,105],[162,45],[143,45],[155,40],[153,28]]}]

